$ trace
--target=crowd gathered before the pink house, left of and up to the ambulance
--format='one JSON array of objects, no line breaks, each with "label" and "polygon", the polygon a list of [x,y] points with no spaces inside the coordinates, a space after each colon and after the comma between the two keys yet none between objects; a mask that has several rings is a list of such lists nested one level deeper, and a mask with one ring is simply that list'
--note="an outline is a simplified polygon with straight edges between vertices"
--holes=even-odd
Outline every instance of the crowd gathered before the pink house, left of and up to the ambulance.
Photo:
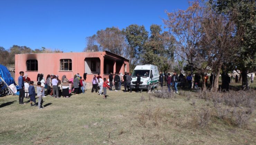
[{"label": "crowd gathered before the pink house, left of and up to the ambulance", "polygon": [[[18,87],[19,87],[19,104],[24,104],[24,97],[30,99],[31,106],[38,106],[39,109],[43,108],[43,98],[49,95],[53,98],[69,98],[72,93],[73,95],[78,95],[80,93],[85,93],[86,91],[86,73],[83,75],[83,78],[76,74],[73,78],[67,79],[66,75],[63,75],[61,79],[59,79],[58,75],[47,75],[46,79],[44,74],[38,74],[37,81],[37,96],[38,96],[38,105],[36,104],[36,91],[34,87],[34,81],[28,77],[27,74],[24,74],[23,71],[19,72],[20,76],[18,78]],[[140,77],[139,77],[140,79]],[[125,75],[120,75],[120,73],[115,73],[115,77],[113,77],[113,73],[111,72],[109,75],[109,79],[102,78],[100,74],[98,76],[94,75],[92,79],[92,90],[91,92],[98,93],[98,95],[103,95],[103,99],[107,98],[107,89],[113,91],[113,85],[115,86],[115,91],[121,89],[121,84],[123,83],[125,86],[125,91],[131,92],[131,74],[129,72],[125,72]],[[138,81],[140,82],[140,80]],[[109,84],[109,85],[108,85]],[[139,83],[138,83],[138,89]],[[46,89],[46,92],[45,92]],[[33,105],[34,102],[34,105]]]}]

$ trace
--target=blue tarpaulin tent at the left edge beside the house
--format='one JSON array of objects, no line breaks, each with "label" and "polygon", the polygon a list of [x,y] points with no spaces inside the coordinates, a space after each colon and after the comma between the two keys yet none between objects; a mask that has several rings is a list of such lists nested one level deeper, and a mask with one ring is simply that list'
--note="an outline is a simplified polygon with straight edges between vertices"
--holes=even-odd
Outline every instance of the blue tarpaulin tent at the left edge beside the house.
[{"label": "blue tarpaulin tent at the left edge beside the house", "polygon": [[[9,70],[7,69],[7,67],[5,67],[3,65],[0,65],[0,81],[3,81],[6,84],[3,86],[3,88],[8,87],[9,90],[10,90],[9,86],[11,84],[15,84],[15,81],[11,77]],[[11,93],[13,94],[12,91],[11,91]]]}]

